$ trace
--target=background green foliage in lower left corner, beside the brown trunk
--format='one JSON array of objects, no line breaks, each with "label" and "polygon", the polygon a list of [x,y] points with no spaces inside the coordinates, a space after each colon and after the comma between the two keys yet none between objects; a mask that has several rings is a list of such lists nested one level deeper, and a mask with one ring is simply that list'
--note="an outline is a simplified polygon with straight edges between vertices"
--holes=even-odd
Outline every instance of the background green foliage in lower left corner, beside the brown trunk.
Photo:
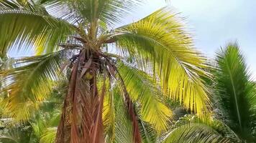
[{"label": "background green foliage in lower left corner, beside the brown trunk", "polygon": [[54,142],[63,102],[63,93],[56,91],[61,91],[63,84],[65,82],[59,82],[58,88],[54,88],[50,96],[42,101],[37,112],[31,113],[28,122],[17,123],[12,118],[1,117],[0,142]]}]

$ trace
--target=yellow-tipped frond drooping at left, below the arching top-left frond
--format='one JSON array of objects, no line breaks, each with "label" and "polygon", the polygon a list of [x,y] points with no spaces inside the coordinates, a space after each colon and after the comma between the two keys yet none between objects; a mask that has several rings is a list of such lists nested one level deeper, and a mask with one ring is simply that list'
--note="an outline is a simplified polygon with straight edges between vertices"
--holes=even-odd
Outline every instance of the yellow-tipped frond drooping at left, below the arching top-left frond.
[{"label": "yellow-tipped frond drooping at left, below the arching top-left frond", "polygon": [[6,114],[21,122],[29,119],[50,94],[67,51],[19,59],[17,68],[0,71],[6,84],[1,92],[8,93],[2,102],[8,110]]}]

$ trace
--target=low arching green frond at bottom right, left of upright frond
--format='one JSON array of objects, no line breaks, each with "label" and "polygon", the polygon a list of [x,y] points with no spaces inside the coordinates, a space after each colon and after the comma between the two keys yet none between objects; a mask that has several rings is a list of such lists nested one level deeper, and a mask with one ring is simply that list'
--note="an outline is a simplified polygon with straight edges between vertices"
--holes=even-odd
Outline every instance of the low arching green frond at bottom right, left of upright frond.
[{"label": "low arching green frond at bottom right, left of upright frond", "polygon": [[[233,137],[233,138],[232,138]],[[233,139],[233,140],[231,140]],[[193,114],[179,117],[173,126],[160,137],[160,142],[232,142],[239,141],[223,122],[198,118]]]}]

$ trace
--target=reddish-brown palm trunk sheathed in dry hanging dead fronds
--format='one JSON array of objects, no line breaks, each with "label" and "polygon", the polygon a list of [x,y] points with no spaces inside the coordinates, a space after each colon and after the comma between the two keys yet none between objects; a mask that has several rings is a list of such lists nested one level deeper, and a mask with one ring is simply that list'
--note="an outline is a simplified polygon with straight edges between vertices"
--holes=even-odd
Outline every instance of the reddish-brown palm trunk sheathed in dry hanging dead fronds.
[{"label": "reddish-brown palm trunk sheathed in dry hanging dead fronds", "polygon": [[[102,108],[106,87],[102,87],[101,95],[97,89],[96,73],[99,67],[92,61],[93,78],[81,76],[84,64],[89,57],[81,52],[73,66],[68,93],[65,97],[63,114],[58,127],[57,143],[103,143],[104,127]],[[98,60],[99,61],[99,60]]]}]

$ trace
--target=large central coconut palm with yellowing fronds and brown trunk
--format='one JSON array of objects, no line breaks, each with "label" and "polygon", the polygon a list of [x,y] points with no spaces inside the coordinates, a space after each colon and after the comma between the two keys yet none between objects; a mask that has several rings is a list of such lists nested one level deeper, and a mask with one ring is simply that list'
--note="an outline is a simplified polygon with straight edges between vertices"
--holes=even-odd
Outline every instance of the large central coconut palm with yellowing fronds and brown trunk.
[{"label": "large central coconut palm with yellowing fronds and brown trunk", "polygon": [[137,4],[142,3],[0,1],[0,54],[36,52],[0,71],[9,116],[27,121],[65,71],[69,82],[56,142],[113,142],[122,134],[116,124],[130,132],[131,142],[141,142],[138,122],[157,134],[168,128],[172,112],[166,98],[204,116],[210,105],[201,78],[209,77],[208,66],[175,12],[164,7],[114,28]]}]

